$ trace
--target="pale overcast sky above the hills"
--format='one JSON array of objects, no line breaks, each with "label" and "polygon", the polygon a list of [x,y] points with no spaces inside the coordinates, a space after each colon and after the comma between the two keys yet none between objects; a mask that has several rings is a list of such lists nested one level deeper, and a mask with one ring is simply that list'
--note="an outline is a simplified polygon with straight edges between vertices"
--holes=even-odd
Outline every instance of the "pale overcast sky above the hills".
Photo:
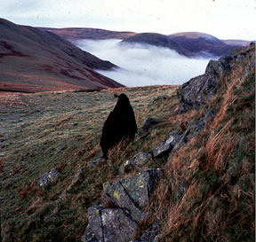
[{"label": "pale overcast sky above the hills", "polygon": [[0,0],[0,17],[34,27],[98,27],[256,39],[256,0]]}]

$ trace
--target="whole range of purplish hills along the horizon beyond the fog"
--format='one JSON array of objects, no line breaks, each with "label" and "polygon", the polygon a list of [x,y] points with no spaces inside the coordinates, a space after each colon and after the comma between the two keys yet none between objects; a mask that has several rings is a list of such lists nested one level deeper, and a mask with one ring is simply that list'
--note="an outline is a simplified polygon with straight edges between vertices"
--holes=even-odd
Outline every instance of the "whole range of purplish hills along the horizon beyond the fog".
[{"label": "whole range of purplish hills along the horizon beyond the fog", "polygon": [[251,42],[244,40],[220,40],[213,35],[200,32],[183,32],[172,35],[157,33],[134,33],[129,31],[110,31],[91,27],[38,27],[52,32],[66,40],[105,40],[122,39],[122,43],[148,43],[177,51],[181,55],[193,56],[223,56],[229,55],[236,47],[248,46]]}]

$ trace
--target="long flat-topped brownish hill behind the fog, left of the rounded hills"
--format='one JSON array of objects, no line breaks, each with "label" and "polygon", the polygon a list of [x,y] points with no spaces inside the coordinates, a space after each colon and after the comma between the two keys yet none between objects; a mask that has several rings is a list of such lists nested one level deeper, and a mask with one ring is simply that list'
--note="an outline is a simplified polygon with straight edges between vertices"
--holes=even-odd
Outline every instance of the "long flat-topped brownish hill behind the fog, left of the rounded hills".
[{"label": "long flat-topped brownish hill behind the fog, left of the rounded hills", "polygon": [[125,39],[132,35],[136,35],[133,32],[125,31],[110,31],[100,28],[92,27],[63,27],[63,28],[52,28],[52,27],[37,27],[38,29],[52,32],[56,35],[68,39]]}]

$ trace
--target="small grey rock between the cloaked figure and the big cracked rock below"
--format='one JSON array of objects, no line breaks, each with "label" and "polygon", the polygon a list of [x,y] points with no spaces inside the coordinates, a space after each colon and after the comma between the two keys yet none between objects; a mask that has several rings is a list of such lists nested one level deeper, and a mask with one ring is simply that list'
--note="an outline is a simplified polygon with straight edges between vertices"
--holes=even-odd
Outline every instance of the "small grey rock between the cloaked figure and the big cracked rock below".
[{"label": "small grey rock between the cloaked figure and the big cracked rock below", "polygon": [[138,171],[141,171],[142,167],[152,160],[152,155],[148,152],[139,152],[135,154],[132,159],[127,160],[124,164],[119,168],[120,173],[124,174],[125,168],[135,168]]}]

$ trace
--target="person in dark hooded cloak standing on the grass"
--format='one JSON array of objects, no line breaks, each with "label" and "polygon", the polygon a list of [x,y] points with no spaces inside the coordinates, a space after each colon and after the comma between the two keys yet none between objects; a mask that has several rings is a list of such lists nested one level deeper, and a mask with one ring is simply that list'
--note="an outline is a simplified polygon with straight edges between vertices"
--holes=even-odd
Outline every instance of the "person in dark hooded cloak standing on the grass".
[{"label": "person in dark hooded cloak standing on the grass", "polygon": [[122,140],[128,142],[134,140],[135,133],[137,133],[137,125],[132,105],[129,98],[122,93],[102,129],[100,147],[103,157],[108,160],[108,150]]}]

